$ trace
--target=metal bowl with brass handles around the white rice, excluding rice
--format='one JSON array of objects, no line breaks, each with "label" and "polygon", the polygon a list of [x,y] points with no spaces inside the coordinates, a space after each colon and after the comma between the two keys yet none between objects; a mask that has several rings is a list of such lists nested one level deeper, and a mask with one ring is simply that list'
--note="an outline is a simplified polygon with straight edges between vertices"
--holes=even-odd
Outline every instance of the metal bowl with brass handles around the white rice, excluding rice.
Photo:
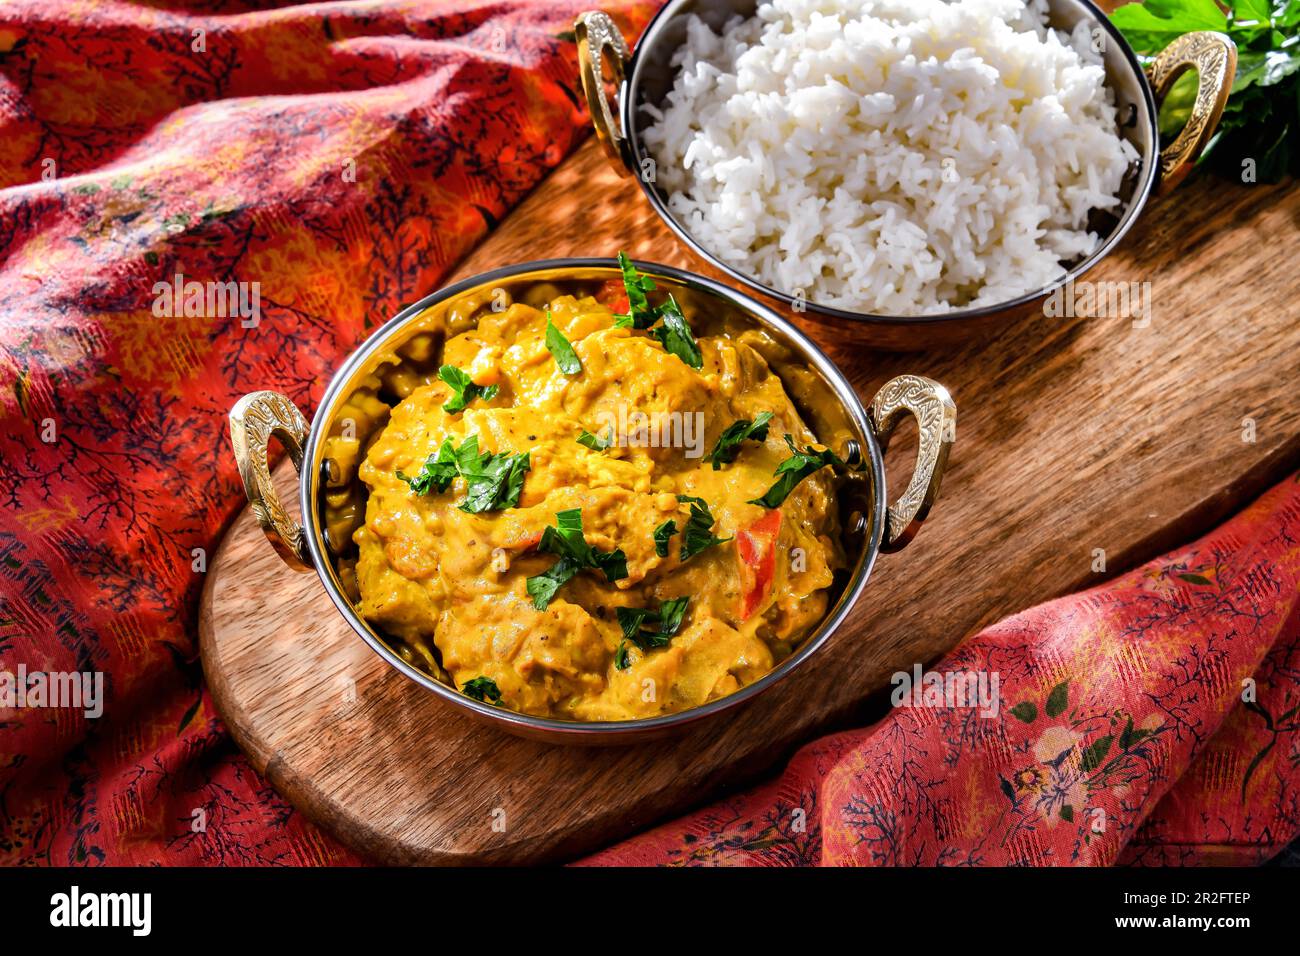
[{"label": "metal bowl with brass handles around the white rice, excluding rice", "polygon": [[[1106,83],[1115,96],[1119,134],[1132,143],[1139,155],[1123,185],[1123,204],[1118,215],[1105,213],[1097,217],[1095,225],[1089,224],[1102,237],[1097,248],[1070,264],[1066,274],[1049,286],[996,306],[914,316],[850,312],[819,306],[811,299],[796,299],[710,252],[668,209],[668,196],[649,172],[654,169],[654,159],[641,135],[646,122],[645,107],[662,105],[672,88],[676,69],[671,64],[685,42],[688,20],[697,16],[716,31],[732,17],[751,17],[757,7],[758,0],[670,0],[650,21],[634,51],[628,48],[618,26],[604,13],[592,12],[578,17],[575,35],[580,78],[597,137],[615,168],[637,178],[659,219],[701,259],[753,291],[781,303],[788,313],[814,319],[838,334],[887,349],[945,345],[975,333],[988,334],[1032,312],[1041,313],[1044,300],[1053,291],[1072,285],[1119,245],[1153,191],[1171,190],[1191,172],[1218,126],[1236,69],[1232,40],[1223,34],[1202,31],[1174,40],[1144,73],[1136,53],[1091,0],[1048,0],[1052,27],[1070,31],[1079,22],[1088,22],[1093,36],[1100,38]],[[618,85],[616,104],[606,96],[604,65],[612,69]],[[1162,146],[1157,100],[1190,69],[1200,77],[1192,116],[1178,138]]]}]

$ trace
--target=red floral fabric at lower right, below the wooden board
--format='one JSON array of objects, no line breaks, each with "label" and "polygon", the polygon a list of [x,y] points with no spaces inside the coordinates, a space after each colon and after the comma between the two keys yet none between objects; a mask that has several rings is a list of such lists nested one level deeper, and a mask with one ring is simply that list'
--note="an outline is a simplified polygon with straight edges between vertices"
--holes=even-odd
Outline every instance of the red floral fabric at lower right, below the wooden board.
[{"label": "red floral fabric at lower right, below the wooden board", "polygon": [[[1254,864],[1300,834],[1300,481],[963,643],[996,717],[898,708],[586,864]],[[924,701],[923,701],[924,702]]]}]

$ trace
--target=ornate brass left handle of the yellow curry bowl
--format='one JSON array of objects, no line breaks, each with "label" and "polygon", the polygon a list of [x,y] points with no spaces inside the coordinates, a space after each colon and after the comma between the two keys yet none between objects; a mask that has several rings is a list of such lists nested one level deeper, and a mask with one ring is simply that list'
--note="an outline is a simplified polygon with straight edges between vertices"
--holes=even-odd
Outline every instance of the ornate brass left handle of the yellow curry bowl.
[{"label": "ornate brass left handle of the yellow curry bowl", "polygon": [[266,445],[272,436],[280,438],[294,462],[294,470],[302,475],[303,444],[309,431],[298,406],[278,392],[251,392],[230,410],[230,444],[239,463],[244,494],[272,548],[295,571],[312,570],[307,535],[280,503],[270,480]]}]

